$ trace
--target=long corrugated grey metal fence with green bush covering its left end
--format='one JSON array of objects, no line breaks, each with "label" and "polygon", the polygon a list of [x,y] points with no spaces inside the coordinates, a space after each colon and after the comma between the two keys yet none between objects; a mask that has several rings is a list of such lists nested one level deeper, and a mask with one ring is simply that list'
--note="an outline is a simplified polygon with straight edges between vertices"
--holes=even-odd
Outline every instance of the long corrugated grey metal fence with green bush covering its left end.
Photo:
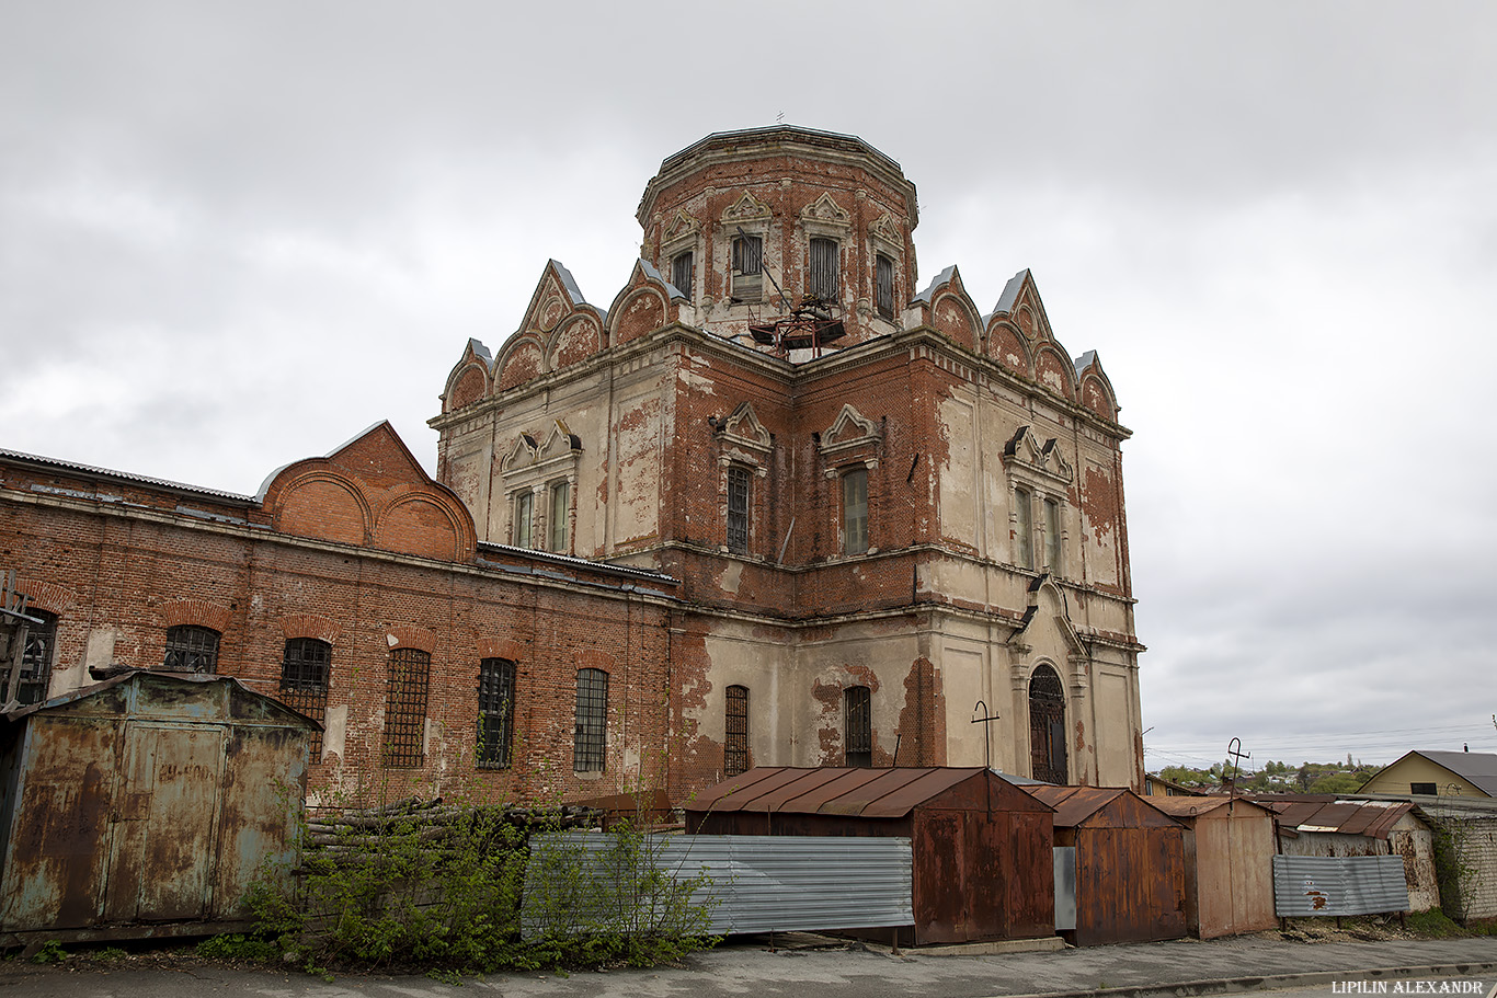
[{"label": "long corrugated grey metal fence with green bush covering its left end", "polygon": [[[780,835],[539,836],[525,868],[524,935],[546,911],[650,928],[672,884],[710,911],[710,932],[859,929],[915,922],[907,838]],[[653,875],[654,874],[654,875]],[[624,928],[627,931],[627,928]]]}]

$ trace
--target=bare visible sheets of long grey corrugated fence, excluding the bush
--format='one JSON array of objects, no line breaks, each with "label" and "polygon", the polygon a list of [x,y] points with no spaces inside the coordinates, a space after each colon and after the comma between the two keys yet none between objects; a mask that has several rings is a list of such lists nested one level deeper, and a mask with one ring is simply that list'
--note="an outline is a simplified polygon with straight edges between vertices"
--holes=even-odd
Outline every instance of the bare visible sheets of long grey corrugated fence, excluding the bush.
[{"label": "bare visible sheets of long grey corrugated fence, excluding the bush", "polygon": [[[605,884],[588,890],[584,904],[621,904],[606,886],[617,883],[609,868],[614,836],[575,832],[546,839],[585,857],[582,880]],[[527,937],[543,931],[531,899],[548,896],[545,878],[554,875],[537,860],[542,853],[533,850],[525,871]],[[677,881],[701,877],[692,902],[708,907],[710,932],[813,932],[915,922],[909,838],[660,835],[645,836],[639,862]]]}]

